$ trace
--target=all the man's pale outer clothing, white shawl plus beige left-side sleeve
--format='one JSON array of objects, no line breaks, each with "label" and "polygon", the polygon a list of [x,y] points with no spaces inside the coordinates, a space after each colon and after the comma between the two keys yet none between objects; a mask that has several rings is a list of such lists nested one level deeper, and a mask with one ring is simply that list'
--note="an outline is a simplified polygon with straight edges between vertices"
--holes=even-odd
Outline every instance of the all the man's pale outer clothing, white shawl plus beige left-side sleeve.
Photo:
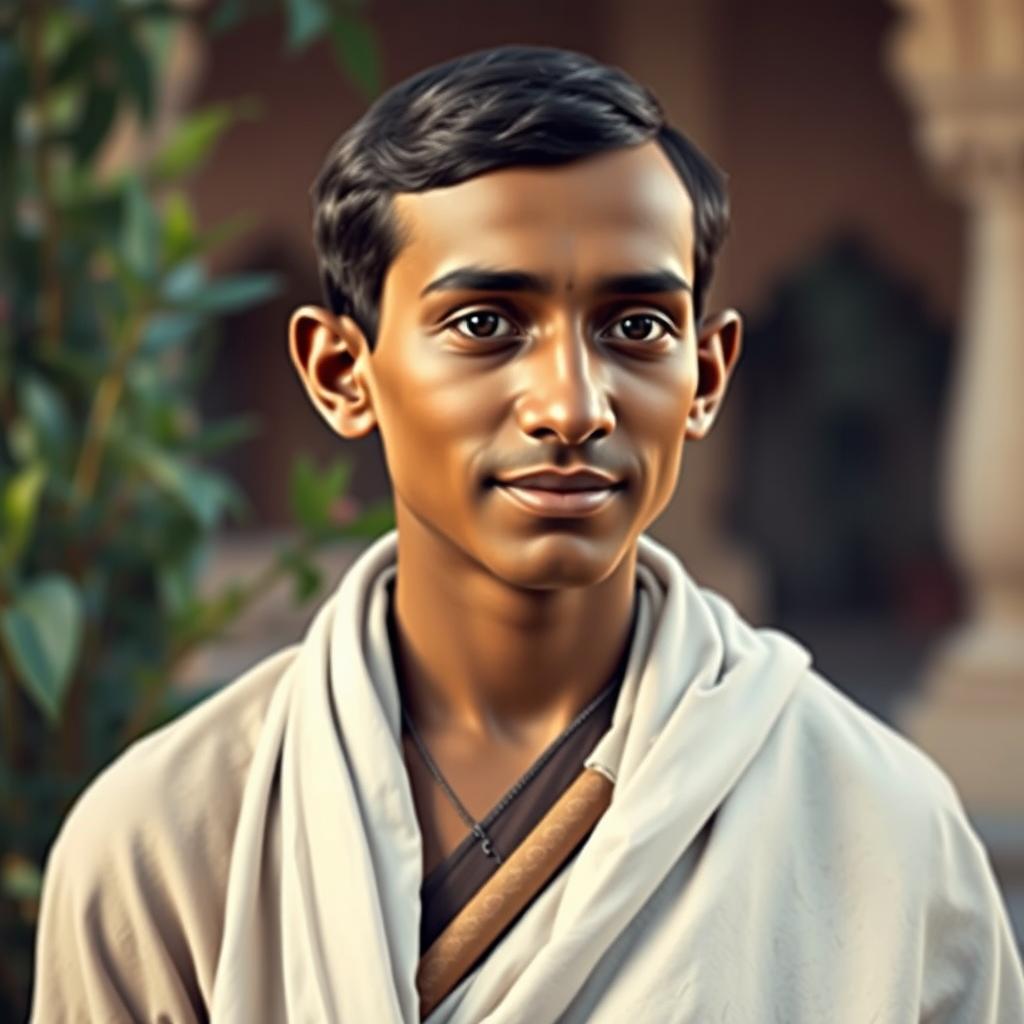
[{"label": "all the man's pale outer clothing, white shawl plus beige left-side sleeve", "polygon": [[[78,802],[46,871],[36,1024],[417,1020],[395,557],[390,534],[299,647]],[[587,759],[611,805],[431,1024],[1024,1020],[985,853],[932,762],[647,538],[637,588]]]}]

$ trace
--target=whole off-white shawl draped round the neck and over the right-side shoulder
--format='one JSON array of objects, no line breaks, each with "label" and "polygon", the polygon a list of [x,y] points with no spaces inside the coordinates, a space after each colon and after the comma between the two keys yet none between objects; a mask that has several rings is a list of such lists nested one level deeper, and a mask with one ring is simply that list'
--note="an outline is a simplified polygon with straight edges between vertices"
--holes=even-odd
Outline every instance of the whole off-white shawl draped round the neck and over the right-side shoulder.
[{"label": "whole off-white shawl draped round the neck and over the right-side shoulder", "polygon": [[[253,985],[266,975],[295,1024],[418,1019],[394,561],[394,535],[359,559],[274,695],[231,860],[218,1024],[272,1019]],[[638,584],[622,695],[588,759],[617,780],[611,807],[431,1024],[1024,1020],[984,854],[938,771],[647,538]],[[280,879],[263,869],[274,804]]]}]

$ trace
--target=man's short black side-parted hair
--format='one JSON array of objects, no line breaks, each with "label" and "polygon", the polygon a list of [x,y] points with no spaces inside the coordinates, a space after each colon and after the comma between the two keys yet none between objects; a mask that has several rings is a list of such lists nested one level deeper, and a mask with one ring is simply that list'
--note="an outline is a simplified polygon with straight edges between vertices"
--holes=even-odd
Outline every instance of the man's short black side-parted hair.
[{"label": "man's short black side-parted hair", "polygon": [[656,139],[693,203],[699,323],[729,202],[723,173],[666,124],[625,72],[569,50],[500,46],[428,68],[380,96],[328,154],[310,189],[324,297],[376,343],[401,239],[391,197],[506,167],[567,164]]}]

